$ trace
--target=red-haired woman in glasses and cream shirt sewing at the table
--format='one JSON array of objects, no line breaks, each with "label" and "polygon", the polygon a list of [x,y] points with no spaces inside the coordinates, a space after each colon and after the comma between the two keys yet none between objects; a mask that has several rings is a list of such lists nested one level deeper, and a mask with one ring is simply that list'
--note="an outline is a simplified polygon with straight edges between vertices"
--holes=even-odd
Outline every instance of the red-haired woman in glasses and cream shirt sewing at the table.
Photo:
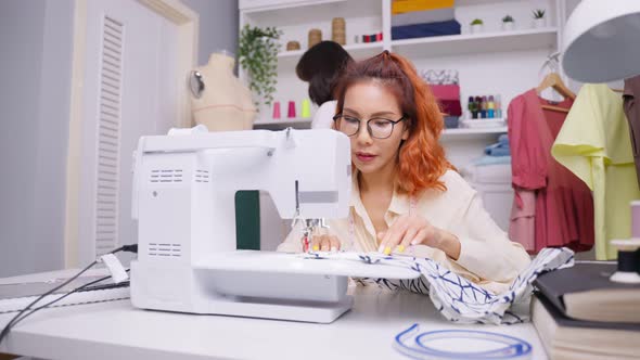
[{"label": "red-haired woman in glasses and cream shirt sewing at the table", "polygon": [[[354,184],[347,219],[329,221],[312,249],[432,258],[492,292],[529,263],[452,169],[438,143],[443,117],[428,86],[387,51],[349,66],[334,128],[350,138]],[[302,250],[300,229],[279,246]]]}]

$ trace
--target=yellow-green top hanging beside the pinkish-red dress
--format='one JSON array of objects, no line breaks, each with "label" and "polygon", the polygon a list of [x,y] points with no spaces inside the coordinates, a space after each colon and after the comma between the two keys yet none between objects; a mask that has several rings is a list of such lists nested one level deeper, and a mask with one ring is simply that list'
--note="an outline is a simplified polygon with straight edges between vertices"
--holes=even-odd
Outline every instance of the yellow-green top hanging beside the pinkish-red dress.
[{"label": "yellow-green top hanging beside the pinkish-red dress", "polygon": [[615,259],[609,241],[631,235],[630,202],[640,198],[622,95],[583,86],[551,154],[593,192],[596,258]]}]

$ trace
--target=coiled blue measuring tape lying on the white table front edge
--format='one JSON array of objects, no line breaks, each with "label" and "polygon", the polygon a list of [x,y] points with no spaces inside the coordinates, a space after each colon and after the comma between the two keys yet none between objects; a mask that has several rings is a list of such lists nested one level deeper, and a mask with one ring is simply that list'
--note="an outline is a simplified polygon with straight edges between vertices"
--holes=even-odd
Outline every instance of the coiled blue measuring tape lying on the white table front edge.
[{"label": "coiled blue measuring tape lying on the white table front edge", "polygon": [[[449,348],[464,348],[464,343],[481,343],[485,350],[457,351],[447,346],[436,348],[437,343],[453,342]],[[420,333],[418,324],[396,335],[394,347],[412,359],[529,359],[532,345],[517,337],[474,330],[438,330]]]}]

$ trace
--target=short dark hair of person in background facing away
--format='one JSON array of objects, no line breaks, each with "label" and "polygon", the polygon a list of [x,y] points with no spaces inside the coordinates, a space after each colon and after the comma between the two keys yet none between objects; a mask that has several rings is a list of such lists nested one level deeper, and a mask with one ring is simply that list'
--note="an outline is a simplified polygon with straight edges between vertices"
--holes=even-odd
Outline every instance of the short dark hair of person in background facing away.
[{"label": "short dark hair of person in background facing away", "polygon": [[295,67],[303,81],[309,82],[309,98],[318,105],[334,100],[334,89],[345,66],[354,59],[333,41],[320,41],[307,50]]}]

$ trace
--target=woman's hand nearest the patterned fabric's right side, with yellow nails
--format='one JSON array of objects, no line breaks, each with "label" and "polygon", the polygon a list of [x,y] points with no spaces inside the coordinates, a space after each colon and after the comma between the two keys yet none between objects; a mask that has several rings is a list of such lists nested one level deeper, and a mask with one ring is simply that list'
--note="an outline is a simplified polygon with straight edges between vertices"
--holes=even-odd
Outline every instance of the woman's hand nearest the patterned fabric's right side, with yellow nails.
[{"label": "woman's hand nearest the patterned fabric's right side, with yellow nails", "polygon": [[384,232],[377,234],[380,248],[384,254],[392,250],[402,253],[410,245],[423,244],[438,248],[448,257],[458,260],[460,241],[450,232],[438,229],[420,215],[402,215]]}]

